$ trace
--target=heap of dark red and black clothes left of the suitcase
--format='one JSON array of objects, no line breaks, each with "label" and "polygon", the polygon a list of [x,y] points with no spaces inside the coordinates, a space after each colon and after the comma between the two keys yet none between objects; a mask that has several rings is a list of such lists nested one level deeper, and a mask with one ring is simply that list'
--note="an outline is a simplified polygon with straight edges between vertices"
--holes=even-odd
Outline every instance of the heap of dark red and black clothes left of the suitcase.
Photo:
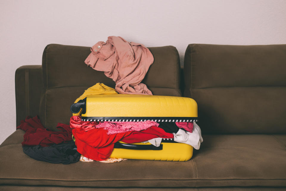
[{"label": "heap of dark red and black clothes left of the suitcase", "polygon": [[26,131],[23,151],[35,160],[62,164],[80,160],[81,155],[76,150],[69,125],[58,123],[60,131],[51,131],[43,127],[38,116],[28,116],[17,129]]}]

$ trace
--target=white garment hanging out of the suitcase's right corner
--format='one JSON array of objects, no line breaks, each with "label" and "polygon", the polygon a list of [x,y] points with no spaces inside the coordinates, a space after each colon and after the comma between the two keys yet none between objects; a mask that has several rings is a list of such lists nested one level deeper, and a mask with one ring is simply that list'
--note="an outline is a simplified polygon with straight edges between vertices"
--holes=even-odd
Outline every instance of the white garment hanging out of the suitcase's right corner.
[{"label": "white garment hanging out of the suitcase's right corner", "polygon": [[200,149],[200,143],[203,142],[200,127],[194,122],[192,133],[179,129],[177,133],[173,133],[174,141],[185,143],[193,146],[195,149]]}]

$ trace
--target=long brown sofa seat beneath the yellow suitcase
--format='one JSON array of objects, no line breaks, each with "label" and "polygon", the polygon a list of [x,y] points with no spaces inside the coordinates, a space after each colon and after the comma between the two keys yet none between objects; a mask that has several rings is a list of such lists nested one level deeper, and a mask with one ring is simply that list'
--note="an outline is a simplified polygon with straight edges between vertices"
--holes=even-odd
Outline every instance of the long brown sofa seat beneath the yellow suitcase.
[{"label": "long brown sofa seat beneath the yellow suitcase", "polygon": [[22,151],[17,130],[0,146],[0,184],[75,187],[286,187],[286,135],[205,135],[186,162],[50,164]]}]

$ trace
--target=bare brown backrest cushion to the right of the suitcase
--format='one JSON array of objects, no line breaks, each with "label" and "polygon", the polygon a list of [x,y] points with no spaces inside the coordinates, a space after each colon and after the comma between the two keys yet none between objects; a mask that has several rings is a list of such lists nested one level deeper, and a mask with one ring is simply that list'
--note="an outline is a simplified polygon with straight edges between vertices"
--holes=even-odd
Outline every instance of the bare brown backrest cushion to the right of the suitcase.
[{"label": "bare brown backrest cushion to the right of the suitcase", "polygon": [[286,45],[189,44],[184,83],[203,133],[286,133]]}]

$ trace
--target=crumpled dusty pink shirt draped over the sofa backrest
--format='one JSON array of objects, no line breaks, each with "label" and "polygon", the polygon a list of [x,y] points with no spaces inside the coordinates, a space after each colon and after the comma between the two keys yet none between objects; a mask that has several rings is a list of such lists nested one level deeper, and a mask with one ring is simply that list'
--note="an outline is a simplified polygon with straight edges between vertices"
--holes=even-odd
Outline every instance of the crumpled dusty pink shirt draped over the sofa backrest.
[{"label": "crumpled dusty pink shirt draped over the sofa backrest", "polygon": [[91,53],[84,62],[112,78],[118,93],[152,95],[141,81],[153,61],[152,53],[143,44],[109,36],[106,42],[99,41],[91,47]]}]

